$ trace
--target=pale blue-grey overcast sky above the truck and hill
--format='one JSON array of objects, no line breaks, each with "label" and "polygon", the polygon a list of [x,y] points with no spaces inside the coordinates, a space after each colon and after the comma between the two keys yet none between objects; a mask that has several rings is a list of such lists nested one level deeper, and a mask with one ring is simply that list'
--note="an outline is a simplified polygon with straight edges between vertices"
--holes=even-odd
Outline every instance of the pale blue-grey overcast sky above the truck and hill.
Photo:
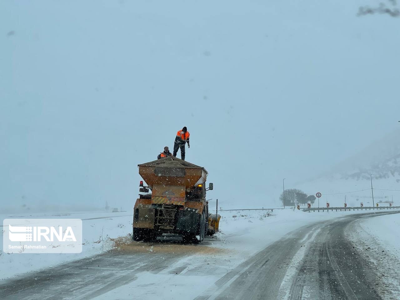
[{"label": "pale blue-grey overcast sky above the truck and hill", "polygon": [[187,126],[209,198],[275,205],[400,126],[400,18],[366,4],[2,1],[0,202],[130,210]]}]

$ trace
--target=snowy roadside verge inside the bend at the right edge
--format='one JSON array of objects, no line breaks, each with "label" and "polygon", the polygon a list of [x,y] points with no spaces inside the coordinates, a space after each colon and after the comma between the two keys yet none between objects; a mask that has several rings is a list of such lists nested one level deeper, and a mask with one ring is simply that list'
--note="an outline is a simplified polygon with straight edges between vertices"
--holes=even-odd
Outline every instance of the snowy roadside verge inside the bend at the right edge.
[{"label": "snowy roadside verge inside the bend at the right edge", "polygon": [[393,299],[386,294],[400,299],[400,214],[356,221],[347,234],[376,270],[382,299]]}]

